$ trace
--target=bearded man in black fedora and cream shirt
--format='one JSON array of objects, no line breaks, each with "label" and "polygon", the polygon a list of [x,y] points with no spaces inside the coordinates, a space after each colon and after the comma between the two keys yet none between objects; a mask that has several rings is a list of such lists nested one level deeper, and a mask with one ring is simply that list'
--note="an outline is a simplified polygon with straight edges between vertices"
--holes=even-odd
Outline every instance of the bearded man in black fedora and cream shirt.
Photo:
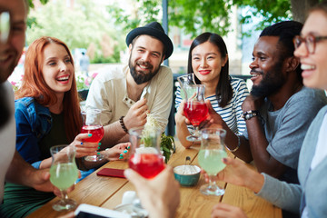
[{"label": "bearded man in black fedora and cream shirt", "polygon": [[102,110],[103,148],[127,142],[128,130],[143,126],[153,114],[162,130],[173,98],[173,73],[161,65],[173,53],[173,43],[158,22],[135,28],[126,36],[128,64],[98,74],[86,108]]}]

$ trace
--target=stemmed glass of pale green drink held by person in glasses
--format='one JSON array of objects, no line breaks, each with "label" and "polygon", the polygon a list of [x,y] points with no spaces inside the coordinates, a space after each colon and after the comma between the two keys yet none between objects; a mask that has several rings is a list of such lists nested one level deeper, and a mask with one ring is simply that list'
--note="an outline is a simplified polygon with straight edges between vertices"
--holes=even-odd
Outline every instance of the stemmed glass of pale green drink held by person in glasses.
[{"label": "stemmed glass of pale green drink held by person in glasses", "polygon": [[201,130],[201,148],[198,154],[200,166],[209,176],[209,183],[200,187],[200,192],[206,195],[223,195],[224,190],[219,188],[214,177],[226,166],[222,159],[227,157],[224,150],[226,131],[219,128]]}]

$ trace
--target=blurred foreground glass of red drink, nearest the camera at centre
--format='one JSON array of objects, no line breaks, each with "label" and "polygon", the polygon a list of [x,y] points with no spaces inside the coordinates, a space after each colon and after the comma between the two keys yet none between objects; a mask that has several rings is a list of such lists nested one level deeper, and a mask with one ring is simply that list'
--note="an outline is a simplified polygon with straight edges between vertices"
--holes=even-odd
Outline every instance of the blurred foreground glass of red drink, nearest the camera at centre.
[{"label": "blurred foreground glass of red drink, nearest the camera at centre", "polygon": [[163,154],[160,152],[161,129],[135,127],[128,131],[132,149],[128,165],[144,178],[154,178],[164,169]]}]

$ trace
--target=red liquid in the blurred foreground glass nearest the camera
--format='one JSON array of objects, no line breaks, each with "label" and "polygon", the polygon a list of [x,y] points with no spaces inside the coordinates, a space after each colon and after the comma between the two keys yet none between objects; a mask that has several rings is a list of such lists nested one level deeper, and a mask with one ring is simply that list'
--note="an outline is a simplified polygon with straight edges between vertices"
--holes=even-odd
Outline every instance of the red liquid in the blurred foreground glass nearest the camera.
[{"label": "red liquid in the blurred foreground glass nearest the camera", "polygon": [[163,155],[161,154],[133,154],[128,165],[131,169],[144,176],[144,178],[154,178],[164,169]]}]

